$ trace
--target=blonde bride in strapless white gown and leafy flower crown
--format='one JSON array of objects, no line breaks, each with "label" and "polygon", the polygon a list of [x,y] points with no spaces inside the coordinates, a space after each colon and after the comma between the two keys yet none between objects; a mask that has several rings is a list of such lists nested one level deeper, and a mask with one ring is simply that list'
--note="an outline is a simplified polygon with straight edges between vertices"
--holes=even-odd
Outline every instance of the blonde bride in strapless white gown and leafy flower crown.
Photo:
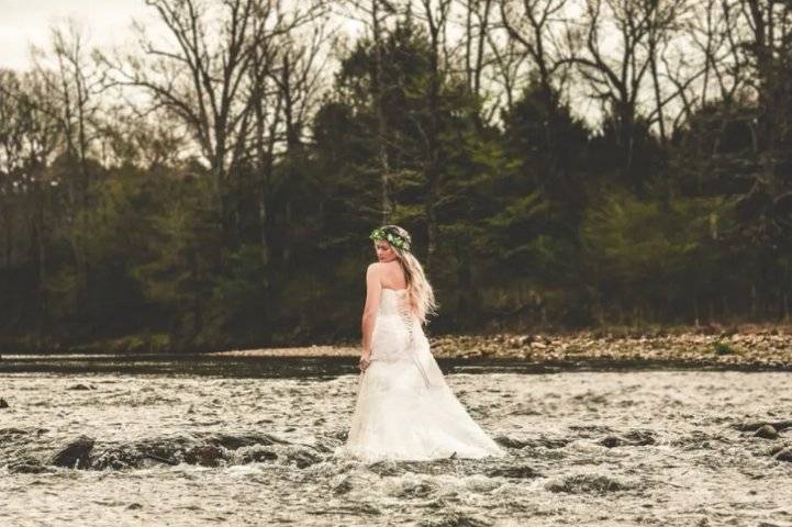
[{"label": "blonde bride in strapless white gown and leafy flower crown", "polygon": [[367,462],[503,456],[430,351],[422,324],[436,304],[410,235],[384,225],[370,238],[379,262],[366,271],[357,403],[341,450]]}]

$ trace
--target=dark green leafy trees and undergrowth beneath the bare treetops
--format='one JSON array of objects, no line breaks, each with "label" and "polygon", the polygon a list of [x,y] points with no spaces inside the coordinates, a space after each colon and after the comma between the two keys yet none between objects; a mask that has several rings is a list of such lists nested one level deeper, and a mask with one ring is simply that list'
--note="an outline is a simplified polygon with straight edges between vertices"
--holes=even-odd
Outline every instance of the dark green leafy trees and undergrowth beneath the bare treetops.
[{"label": "dark green leafy trees and undergrowth beneath the bare treetops", "polygon": [[[789,317],[792,127],[761,150],[754,126],[768,116],[755,98],[707,103],[667,144],[637,115],[625,176],[607,121],[590,130],[559,93],[532,80],[487,124],[484,101],[453,68],[433,77],[420,24],[402,20],[382,42],[386,136],[373,43],[362,38],[306,124],[310,141],[278,152],[269,171],[234,168],[225,217],[207,167],[168,160],[171,143],[156,137],[157,152],[124,144],[114,164],[59,150],[0,164],[2,346],[358,338],[368,234],[382,218],[381,145],[389,222],[412,233],[424,262],[430,205],[435,215],[433,332]],[[0,82],[25,89],[15,77]],[[24,103],[0,110],[14,108],[20,122],[43,119]],[[12,124],[0,122],[9,147],[19,143]]]}]

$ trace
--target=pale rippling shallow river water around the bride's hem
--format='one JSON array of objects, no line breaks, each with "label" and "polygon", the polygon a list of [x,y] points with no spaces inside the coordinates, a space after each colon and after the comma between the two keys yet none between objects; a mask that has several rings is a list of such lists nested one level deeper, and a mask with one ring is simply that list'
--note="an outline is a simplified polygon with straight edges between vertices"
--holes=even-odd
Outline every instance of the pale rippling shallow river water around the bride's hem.
[{"label": "pale rippling shallow river water around the bride's hem", "polygon": [[208,365],[0,373],[0,525],[792,525],[792,429],[735,428],[792,418],[790,373],[446,365],[510,457],[367,466],[332,455],[349,359]]}]

